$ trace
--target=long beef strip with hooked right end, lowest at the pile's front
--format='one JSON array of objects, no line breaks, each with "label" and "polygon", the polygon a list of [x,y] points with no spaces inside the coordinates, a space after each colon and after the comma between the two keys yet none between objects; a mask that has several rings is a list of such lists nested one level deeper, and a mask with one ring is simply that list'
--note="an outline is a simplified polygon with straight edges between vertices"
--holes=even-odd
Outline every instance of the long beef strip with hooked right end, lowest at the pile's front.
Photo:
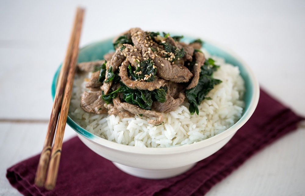
[{"label": "long beef strip with hooked right end, lowest at the pile's front", "polygon": [[157,120],[149,120],[148,123],[152,125],[160,125],[163,122],[163,115],[156,111],[144,110],[139,106],[120,101],[119,97],[113,99],[114,107],[116,107],[119,111],[129,111],[132,114],[140,116],[141,114],[146,117],[156,117]]}]

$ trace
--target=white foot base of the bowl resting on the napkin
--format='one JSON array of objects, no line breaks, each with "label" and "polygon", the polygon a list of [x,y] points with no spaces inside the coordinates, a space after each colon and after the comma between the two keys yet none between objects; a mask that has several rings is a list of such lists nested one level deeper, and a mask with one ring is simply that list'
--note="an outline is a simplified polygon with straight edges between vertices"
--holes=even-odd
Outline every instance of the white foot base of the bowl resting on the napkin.
[{"label": "white foot base of the bowl resting on the napkin", "polygon": [[141,169],[141,168],[122,165],[116,162],[113,162],[113,164],[117,168],[119,168],[120,170],[131,176],[136,176],[145,179],[164,179],[164,178],[178,176],[196,165],[196,163],[192,163],[190,165],[185,165],[182,167],[172,168],[172,169]]}]

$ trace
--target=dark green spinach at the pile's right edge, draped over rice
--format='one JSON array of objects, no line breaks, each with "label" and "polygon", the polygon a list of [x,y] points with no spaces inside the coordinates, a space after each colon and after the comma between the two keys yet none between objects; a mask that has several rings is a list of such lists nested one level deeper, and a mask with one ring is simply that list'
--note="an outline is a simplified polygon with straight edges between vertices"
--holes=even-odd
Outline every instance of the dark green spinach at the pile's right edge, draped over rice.
[{"label": "dark green spinach at the pile's right edge, draped over rice", "polygon": [[[213,73],[219,68],[218,65],[215,65],[213,59],[208,59],[204,62],[199,73],[199,80],[197,86],[192,89],[185,90],[186,97],[190,103],[189,111],[191,114],[199,114],[198,105],[201,101],[206,99],[205,97],[210,90],[214,88],[215,85],[221,83],[221,80],[213,78]],[[207,99],[211,99],[208,97]]]}]

